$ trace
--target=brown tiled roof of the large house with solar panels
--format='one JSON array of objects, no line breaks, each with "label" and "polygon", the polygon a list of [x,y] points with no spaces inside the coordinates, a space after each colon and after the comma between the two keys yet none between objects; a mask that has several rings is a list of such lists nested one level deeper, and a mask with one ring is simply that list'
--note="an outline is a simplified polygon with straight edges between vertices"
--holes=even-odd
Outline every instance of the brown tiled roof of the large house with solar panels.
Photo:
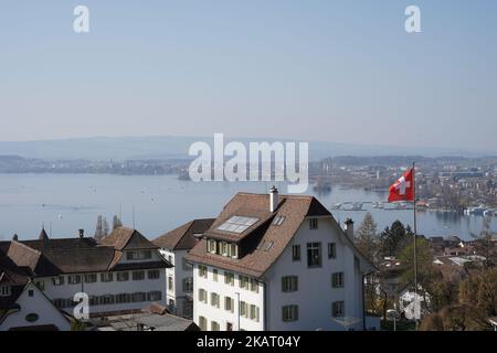
[{"label": "brown tiled roof of the large house with solar panels", "polygon": [[[205,234],[207,236],[218,235],[219,232],[214,231],[214,228],[233,215],[267,215],[268,210],[268,194],[237,193],[224,206],[216,221]],[[273,222],[268,222],[275,216],[285,216],[282,225],[275,225]],[[244,238],[253,238],[253,246],[240,259],[208,253],[205,238],[190,250],[188,259],[193,263],[201,263],[254,277],[262,277],[284,252],[307,216],[331,216],[331,214],[314,196],[279,195],[278,207],[272,213],[272,216],[266,217],[265,223],[261,222],[257,226],[251,227],[248,234],[243,234]]]}]

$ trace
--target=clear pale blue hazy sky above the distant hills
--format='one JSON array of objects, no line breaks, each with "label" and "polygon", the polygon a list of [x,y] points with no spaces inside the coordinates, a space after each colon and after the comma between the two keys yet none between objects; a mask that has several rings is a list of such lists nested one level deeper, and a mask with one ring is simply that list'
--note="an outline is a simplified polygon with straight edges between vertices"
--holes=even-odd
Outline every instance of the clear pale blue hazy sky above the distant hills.
[{"label": "clear pale blue hazy sky above the distant hills", "polygon": [[[73,9],[91,33],[73,32]],[[416,4],[422,33],[404,31]],[[0,140],[277,137],[497,150],[495,0],[1,0]]]}]

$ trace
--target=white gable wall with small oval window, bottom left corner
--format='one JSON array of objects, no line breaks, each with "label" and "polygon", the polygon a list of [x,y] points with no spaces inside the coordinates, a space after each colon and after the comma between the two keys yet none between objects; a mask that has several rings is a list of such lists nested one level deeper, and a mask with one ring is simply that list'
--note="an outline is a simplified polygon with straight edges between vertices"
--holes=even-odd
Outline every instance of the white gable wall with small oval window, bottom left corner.
[{"label": "white gable wall with small oval window, bottom left corner", "polygon": [[[32,297],[29,296],[29,290],[33,291]],[[71,330],[70,322],[33,285],[30,285],[24,290],[24,292],[19,297],[17,303],[21,307],[20,311],[9,314],[6,320],[0,323],[0,331],[8,331],[11,328],[45,324],[53,324],[59,328],[60,331]],[[30,313],[38,314],[38,320],[34,322],[27,321],[25,317]]]}]

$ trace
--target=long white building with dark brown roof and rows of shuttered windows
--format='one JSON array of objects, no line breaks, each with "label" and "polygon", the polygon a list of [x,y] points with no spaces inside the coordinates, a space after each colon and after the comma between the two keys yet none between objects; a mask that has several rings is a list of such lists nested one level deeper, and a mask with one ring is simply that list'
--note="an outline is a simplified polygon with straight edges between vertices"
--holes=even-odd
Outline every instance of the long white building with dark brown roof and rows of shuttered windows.
[{"label": "long white building with dark brown roof and rows of shuttered windows", "polygon": [[2,252],[55,307],[73,311],[74,295],[89,297],[89,314],[126,312],[166,303],[166,268],[171,265],[139,232],[120,227],[97,243],[84,237],[3,242]]}]

